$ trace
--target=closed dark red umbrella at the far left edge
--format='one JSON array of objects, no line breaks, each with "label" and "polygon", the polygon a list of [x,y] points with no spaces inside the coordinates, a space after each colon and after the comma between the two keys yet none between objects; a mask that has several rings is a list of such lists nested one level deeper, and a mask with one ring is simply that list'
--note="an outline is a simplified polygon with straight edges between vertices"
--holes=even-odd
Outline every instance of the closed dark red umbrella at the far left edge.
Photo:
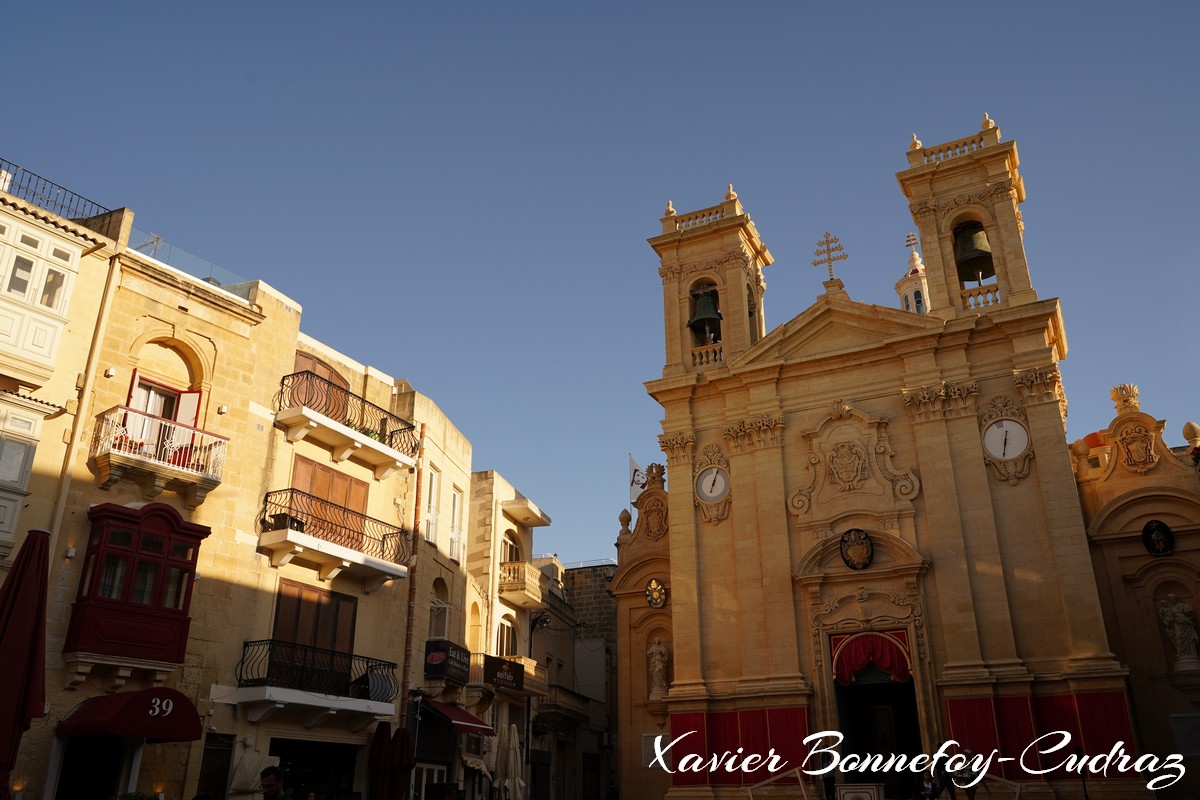
[{"label": "closed dark red umbrella at the far left edge", "polygon": [[0,585],[0,800],[8,800],[20,736],[46,714],[46,590],[50,535],[31,530]]}]

